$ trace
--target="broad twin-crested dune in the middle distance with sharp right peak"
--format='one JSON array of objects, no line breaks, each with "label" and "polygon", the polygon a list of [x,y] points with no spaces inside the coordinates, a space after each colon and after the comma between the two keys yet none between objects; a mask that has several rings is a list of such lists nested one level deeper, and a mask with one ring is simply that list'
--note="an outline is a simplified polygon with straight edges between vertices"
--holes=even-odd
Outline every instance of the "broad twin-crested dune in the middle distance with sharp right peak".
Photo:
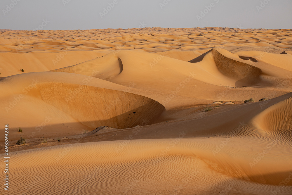
[{"label": "broad twin-crested dune in the middle distance with sharp right peak", "polygon": [[[131,89],[140,90],[140,95],[163,104],[167,107],[166,109],[182,104],[190,105],[191,102],[197,103],[198,99],[235,101],[250,99],[251,96],[261,99],[262,96],[269,96],[271,92],[259,89],[260,94],[259,91],[254,90],[246,93],[244,89],[235,89],[235,87],[279,83],[276,80],[271,81],[274,75],[270,75],[270,80],[262,76],[260,68],[264,68],[266,63],[258,68],[255,66],[258,66],[259,62],[253,64],[254,62],[240,59],[239,56],[221,48],[214,50],[220,50],[221,53],[215,55],[222,63],[219,61],[216,64],[211,51],[200,56],[196,63],[189,63],[161,54],[118,50],[103,57],[52,70],[52,72],[81,74],[124,87],[130,86]],[[225,64],[224,60],[228,63]],[[274,68],[277,69],[277,67]],[[270,72],[265,70],[265,77]],[[283,71],[277,74],[280,73],[283,74]],[[230,88],[223,90],[223,86]],[[204,93],[201,93],[202,90]],[[227,93],[227,90],[230,92]],[[282,94],[284,92],[279,95]]]}]

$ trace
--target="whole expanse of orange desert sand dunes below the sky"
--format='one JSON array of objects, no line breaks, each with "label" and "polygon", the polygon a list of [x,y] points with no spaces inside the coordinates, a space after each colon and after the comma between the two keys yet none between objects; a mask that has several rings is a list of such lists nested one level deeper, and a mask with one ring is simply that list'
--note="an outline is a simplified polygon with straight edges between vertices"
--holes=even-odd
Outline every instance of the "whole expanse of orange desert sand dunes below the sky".
[{"label": "whole expanse of orange desert sand dunes below the sky", "polygon": [[291,195],[291,34],[1,30],[8,194]]}]

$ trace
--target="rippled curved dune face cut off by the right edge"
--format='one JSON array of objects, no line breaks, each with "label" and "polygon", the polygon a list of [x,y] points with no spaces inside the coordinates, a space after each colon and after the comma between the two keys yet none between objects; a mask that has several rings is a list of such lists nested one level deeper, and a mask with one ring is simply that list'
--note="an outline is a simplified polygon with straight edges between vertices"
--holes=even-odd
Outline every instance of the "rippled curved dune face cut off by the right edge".
[{"label": "rippled curved dune face cut off by the right edge", "polygon": [[292,130],[292,97],[265,109],[255,119],[256,126],[267,132]]}]

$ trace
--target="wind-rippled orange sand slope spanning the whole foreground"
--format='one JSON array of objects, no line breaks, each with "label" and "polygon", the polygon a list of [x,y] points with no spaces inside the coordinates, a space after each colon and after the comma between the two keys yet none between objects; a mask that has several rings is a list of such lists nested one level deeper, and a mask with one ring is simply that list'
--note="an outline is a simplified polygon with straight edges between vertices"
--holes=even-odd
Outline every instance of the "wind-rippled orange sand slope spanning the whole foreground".
[{"label": "wind-rippled orange sand slope spanning the whole foreground", "polygon": [[[286,123],[279,123],[286,118],[278,116],[275,122],[270,121],[269,125],[281,130],[267,132],[266,127],[259,125],[265,124],[277,109],[291,107],[291,97],[286,99],[288,96],[291,93],[272,99],[263,107],[266,109],[261,109],[260,103],[242,105],[242,115],[255,116],[241,118],[243,122],[238,126],[229,123],[229,130],[205,127],[201,130],[201,138],[191,138],[191,129],[181,126],[172,131],[176,132],[173,139],[72,142],[13,153],[12,157],[17,159],[11,165],[13,180],[20,181],[20,177],[32,180],[27,184],[15,182],[18,186],[15,194],[20,189],[28,192],[32,187],[36,192],[46,189],[48,194],[91,194],[92,191],[98,194],[120,194],[121,191],[128,194],[218,194],[224,191],[258,194],[259,190],[262,194],[271,191],[291,194],[292,180],[285,182],[292,174],[291,130]],[[287,111],[283,112],[284,116]],[[225,115],[236,112],[237,109],[230,109]],[[214,120],[216,115],[208,118]],[[217,135],[204,138],[211,132]],[[84,153],[88,150],[92,152]],[[37,169],[29,163],[31,159],[38,165]],[[51,185],[51,178],[55,185]]]}]

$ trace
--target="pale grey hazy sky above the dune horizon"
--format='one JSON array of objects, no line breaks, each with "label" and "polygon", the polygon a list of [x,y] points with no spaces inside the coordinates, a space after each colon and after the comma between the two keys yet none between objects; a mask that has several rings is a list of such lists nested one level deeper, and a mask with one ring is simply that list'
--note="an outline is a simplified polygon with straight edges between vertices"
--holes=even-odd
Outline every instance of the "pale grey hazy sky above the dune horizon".
[{"label": "pale grey hazy sky above the dune horizon", "polygon": [[1,0],[0,29],[292,29],[291,0]]}]

